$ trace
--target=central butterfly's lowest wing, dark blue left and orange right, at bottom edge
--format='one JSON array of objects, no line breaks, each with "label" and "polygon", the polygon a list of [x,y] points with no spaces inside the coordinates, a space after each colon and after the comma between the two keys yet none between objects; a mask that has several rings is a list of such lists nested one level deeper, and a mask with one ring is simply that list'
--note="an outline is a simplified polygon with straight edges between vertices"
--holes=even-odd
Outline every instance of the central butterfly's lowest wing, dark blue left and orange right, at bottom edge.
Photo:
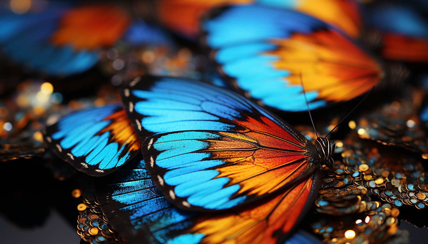
[{"label": "central butterfly's lowest wing, dark blue left and orange right, at bottom edge", "polygon": [[[221,214],[175,208],[160,194],[143,160],[98,179],[95,192],[104,215],[128,243],[284,243],[312,205],[319,173],[240,209]],[[292,235],[288,241],[312,238]]]}]

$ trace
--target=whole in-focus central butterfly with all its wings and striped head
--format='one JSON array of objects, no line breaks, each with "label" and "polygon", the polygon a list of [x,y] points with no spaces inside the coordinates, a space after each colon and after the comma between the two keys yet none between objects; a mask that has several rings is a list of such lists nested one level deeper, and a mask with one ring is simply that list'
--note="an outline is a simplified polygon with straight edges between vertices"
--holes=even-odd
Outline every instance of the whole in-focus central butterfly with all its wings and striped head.
[{"label": "whole in-focus central butterfly with all its wings and striped head", "polygon": [[311,205],[321,166],[333,167],[334,143],[318,137],[314,145],[223,88],[137,76],[121,97],[124,109],[71,114],[48,127],[45,141],[96,176],[123,166],[144,141],[143,160],[96,191],[113,228],[131,243],[282,243]]}]

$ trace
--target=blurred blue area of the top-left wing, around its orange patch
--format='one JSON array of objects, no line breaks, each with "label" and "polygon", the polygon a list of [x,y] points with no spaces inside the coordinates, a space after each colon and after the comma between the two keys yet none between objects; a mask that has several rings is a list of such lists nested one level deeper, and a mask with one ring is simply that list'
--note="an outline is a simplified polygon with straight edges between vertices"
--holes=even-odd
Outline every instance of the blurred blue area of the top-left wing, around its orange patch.
[{"label": "blurred blue area of the top-left wing, around its orange patch", "polygon": [[91,68],[98,62],[97,52],[74,50],[50,41],[68,8],[66,3],[49,2],[38,13],[15,14],[3,10],[0,14],[0,46],[3,52],[16,62],[49,75],[71,75]]}]

